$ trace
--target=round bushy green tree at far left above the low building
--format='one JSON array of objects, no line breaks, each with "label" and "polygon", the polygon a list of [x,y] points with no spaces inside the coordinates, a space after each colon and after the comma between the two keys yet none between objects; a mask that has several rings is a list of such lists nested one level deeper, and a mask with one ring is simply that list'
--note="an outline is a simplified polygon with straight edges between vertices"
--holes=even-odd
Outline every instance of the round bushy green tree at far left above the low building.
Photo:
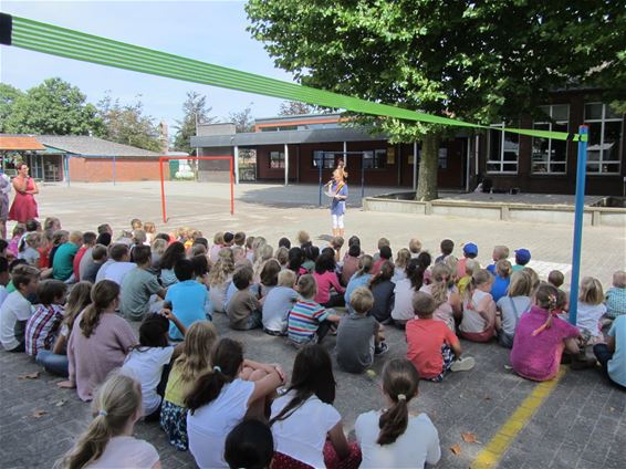
[{"label": "round bushy green tree at far left above the low building", "polygon": [[81,90],[55,77],[19,93],[2,128],[15,134],[101,135],[104,126]]}]

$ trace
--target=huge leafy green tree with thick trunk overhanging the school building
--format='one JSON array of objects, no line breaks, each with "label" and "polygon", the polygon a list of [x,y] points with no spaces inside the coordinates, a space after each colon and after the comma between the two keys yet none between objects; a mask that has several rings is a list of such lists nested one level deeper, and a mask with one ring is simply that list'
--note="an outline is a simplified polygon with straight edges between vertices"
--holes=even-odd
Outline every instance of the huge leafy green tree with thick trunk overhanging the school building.
[{"label": "huge leafy green tree with thick trunk overhanging the school building", "polygon": [[[302,84],[489,124],[534,113],[549,92],[626,86],[623,2],[604,0],[249,0],[252,35]],[[371,119],[421,140],[417,199],[437,197],[449,128]]]}]

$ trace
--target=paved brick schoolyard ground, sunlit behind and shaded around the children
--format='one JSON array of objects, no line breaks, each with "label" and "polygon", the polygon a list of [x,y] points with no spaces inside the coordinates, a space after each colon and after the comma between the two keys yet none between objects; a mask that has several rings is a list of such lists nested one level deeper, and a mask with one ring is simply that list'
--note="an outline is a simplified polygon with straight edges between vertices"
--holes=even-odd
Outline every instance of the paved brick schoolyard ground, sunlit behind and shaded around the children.
[{"label": "paved brick schoolyard ground, sunlit behind and shaded around the children", "polygon": [[[315,207],[312,187],[272,187],[262,185],[237,188],[236,215],[228,212],[225,185],[168,183],[167,225],[160,220],[158,185],[134,183],[112,185],[72,185],[42,187],[38,197],[42,217],[56,215],[70,229],[94,229],[111,222],[115,230],[127,228],[134,217],[157,222],[159,230],[192,226],[210,238],[218,230],[244,230],[263,234],[275,244],[281,236],[293,238],[307,230],[314,239],[327,234],[328,215]],[[347,233],[356,232],[366,251],[386,236],[394,249],[418,237],[432,252],[440,239],[473,241],[479,260],[487,261],[491,248],[505,243],[532,251],[538,267],[570,264],[571,228],[521,222],[489,222],[452,217],[419,217],[362,212],[347,215]],[[322,243],[323,241],[319,241]],[[598,277],[608,285],[614,270],[626,264],[626,233],[613,228],[587,228],[583,244],[583,274]],[[216,317],[220,334],[244,342],[248,356],[279,362],[291,368],[295,351],[281,338],[261,332],[232,332],[226,319]],[[390,351],[377,361],[379,372],[388,357],[405,353],[399,331],[387,332]],[[325,343],[333,348],[334,337]],[[536,389],[508,368],[508,353],[495,344],[462,343],[466,353],[477,358],[469,373],[452,374],[442,384],[422,382],[415,411],[426,411],[441,439],[441,468],[468,468],[488,442],[499,435],[519,406]],[[41,373],[34,379],[24,375],[39,367],[24,355],[0,352],[0,460],[3,468],[51,467],[88,421],[88,406],[71,390],[59,389],[59,378]],[[20,376],[22,378],[20,378]],[[346,431],[352,431],[359,413],[380,406],[376,378],[336,372],[336,407]],[[607,385],[596,371],[566,372],[525,426],[511,439],[498,467],[501,468],[623,468],[626,467],[626,393]],[[43,410],[44,413],[38,413]],[[472,432],[478,442],[466,442],[461,432]],[[154,424],[137,426],[137,436],[157,447],[165,468],[192,467],[188,454],[174,450]],[[459,445],[459,454],[449,448]]]}]

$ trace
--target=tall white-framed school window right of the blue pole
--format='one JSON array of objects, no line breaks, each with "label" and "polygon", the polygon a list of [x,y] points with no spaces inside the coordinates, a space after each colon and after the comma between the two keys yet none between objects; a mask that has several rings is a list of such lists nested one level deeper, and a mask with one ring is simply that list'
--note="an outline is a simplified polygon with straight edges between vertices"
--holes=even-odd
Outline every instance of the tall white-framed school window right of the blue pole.
[{"label": "tall white-framed school window right of the blue pole", "polygon": [[585,104],[585,123],[590,126],[587,173],[619,174],[622,116],[603,103]]}]

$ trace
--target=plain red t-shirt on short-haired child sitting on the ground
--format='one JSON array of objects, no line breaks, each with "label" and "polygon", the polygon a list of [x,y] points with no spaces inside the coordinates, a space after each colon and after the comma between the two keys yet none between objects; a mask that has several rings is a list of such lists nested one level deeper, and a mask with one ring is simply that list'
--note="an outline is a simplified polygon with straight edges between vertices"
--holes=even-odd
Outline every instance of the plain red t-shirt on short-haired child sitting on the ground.
[{"label": "plain red t-shirt on short-haired child sitting on the ground", "polygon": [[407,358],[417,368],[419,377],[434,378],[444,371],[444,344],[458,344],[459,340],[442,321],[410,320],[406,325]]}]

